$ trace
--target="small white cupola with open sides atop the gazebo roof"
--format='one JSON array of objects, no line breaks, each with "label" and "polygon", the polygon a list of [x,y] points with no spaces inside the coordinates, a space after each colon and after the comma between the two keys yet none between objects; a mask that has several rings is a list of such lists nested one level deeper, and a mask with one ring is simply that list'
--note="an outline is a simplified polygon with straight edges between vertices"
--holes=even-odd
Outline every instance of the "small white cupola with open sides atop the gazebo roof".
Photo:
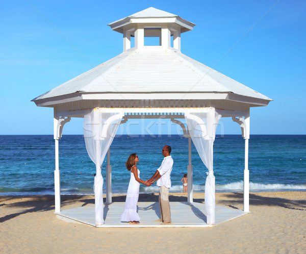
[{"label": "small white cupola with open sides atop the gazebo roof", "polygon": [[108,26],[123,34],[123,52],[131,48],[131,37],[135,37],[135,48],[144,46],[145,37],[159,37],[159,46],[169,48],[171,36],[173,48],[181,51],[181,33],[192,30],[195,24],[175,14],[150,7]]}]

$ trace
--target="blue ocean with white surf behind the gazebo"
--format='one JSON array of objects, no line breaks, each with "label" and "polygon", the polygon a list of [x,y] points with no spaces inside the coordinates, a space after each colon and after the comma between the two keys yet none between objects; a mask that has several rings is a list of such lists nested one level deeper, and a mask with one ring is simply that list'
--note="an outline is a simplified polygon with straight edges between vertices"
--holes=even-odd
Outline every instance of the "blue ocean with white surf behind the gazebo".
[{"label": "blue ocean with white surf behind the gazebo", "polygon": [[[160,166],[164,145],[172,147],[174,161],[170,192],[182,192],[187,173],[188,139],[178,135],[115,137],[111,145],[112,193],[126,193],[130,171],[125,161],[139,157],[140,178],[147,180]],[[95,165],[83,135],[63,135],[59,141],[62,194],[93,194]],[[105,179],[106,160],[102,175]],[[205,190],[205,165],[192,144],[194,192]],[[0,195],[54,194],[55,148],[53,135],[0,136]],[[214,142],[216,192],[243,191],[244,139],[217,136]],[[306,135],[251,135],[249,140],[250,191],[306,191]],[[140,192],[158,187],[141,185]],[[104,184],[105,192],[105,184]]]}]

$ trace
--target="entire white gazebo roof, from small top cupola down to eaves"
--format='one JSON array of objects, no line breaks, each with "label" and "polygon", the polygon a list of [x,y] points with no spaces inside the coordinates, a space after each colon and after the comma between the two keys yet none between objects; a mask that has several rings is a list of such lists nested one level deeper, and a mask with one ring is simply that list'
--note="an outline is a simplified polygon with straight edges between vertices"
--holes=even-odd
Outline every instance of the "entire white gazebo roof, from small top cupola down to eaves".
[{"label": "entire white gazebo roof, from small top cupola down to eaves", "polygon": [[[215,107],[240,114],[271,101],[182,54],[181,33],[195,24],[177,15],[150,7],[109,26],[123,34],[123,53],[34,98],[37,106],[53,107],[59,115],[82,115],[95,107],[171,106]],[[145,37],[159,37],[159,45],[146,46]]]}]

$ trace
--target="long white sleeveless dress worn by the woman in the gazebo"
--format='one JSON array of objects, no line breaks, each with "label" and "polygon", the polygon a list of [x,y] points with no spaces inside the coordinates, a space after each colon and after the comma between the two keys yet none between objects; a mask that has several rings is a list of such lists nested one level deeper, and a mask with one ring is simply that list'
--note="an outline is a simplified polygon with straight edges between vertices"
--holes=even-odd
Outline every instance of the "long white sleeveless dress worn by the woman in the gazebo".
[{"label": "long white sleeveless dress worn by the woman in the gazebo", "polygon": [[[137,169],[137,173],[138,173],[138,178],[139,178],[139,175],[140,175],[139,169]],[[121,221],[139,221],[140,220],[139,215],[137,213],[139,186],[140,186],[140,183],[138,183],[135,180],[134,173],[131,172],[131,180],[129,183],[129,188],[127,188],[125,208],[124,208],[123,214],[121,215]]]}]

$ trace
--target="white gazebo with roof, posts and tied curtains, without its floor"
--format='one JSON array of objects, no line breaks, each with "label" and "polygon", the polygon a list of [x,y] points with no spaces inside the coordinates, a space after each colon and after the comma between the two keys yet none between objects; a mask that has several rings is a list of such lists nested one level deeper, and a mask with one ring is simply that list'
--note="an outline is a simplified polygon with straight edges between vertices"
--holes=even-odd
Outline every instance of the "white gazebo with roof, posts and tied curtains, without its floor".
[{"label": "white gazebo with roof, posts and tied curtains, without its floor", "polygon": [[[86,148],[96,164],[96,225],[104,223],[100,166],[106,154],[106,200],[112,202],[109,148],[118,125],[131,118],[167,118],[180,124],[189,138],[188,202],[193,201],[191,140],[209,170],[205,205],[207,224],[214,224],[213,142],[221,116],[239,123],[245,139],[244,212],[248,212],[249,109],[267,106],[271,99],[182,54],[181,34],[195,24],[177,15],[150,7],[108,26],[123,34],[123,53],[33,99],[39,107],[54,108],[56,212],[61,211],[58,144],[71,117],[84,117]],[[147,37],[158,37],[159,44],[146,46]],[[187,126],[180,119],[186,119]]]}]

